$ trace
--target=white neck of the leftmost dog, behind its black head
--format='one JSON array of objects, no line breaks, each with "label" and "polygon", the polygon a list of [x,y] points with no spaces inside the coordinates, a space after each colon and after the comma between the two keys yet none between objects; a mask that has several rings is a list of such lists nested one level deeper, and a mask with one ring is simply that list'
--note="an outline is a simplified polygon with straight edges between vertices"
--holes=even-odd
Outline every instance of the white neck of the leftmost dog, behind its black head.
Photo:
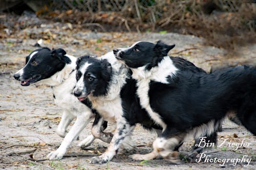
[{"label": "white neck of the leftmost dog, behind its black head", "polygon": [[77,58],[70,55],[65,55],[65,56],[69,57],[69,59],[71,60],[71,63],[66,64],[65,67],[63,67],[63,69],[56,72],[50,78],[41,80],[40,81],[41,83],[54,87],[62,84],[63,82],[65,82],[65,80],[67,80],[70,77],[72,72],[74,72],[76,69]]}]

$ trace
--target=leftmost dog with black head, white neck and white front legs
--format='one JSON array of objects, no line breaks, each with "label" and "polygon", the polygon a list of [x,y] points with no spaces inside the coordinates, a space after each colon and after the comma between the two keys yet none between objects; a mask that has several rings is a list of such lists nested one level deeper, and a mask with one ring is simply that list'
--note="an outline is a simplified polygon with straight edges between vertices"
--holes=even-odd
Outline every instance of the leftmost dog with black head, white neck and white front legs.
[{"label": "leftmost dog with black head, white neck and white front legs", "polygon": [[[108,55],[114,57],[113,52]],[[102,132],[106,128],[107,122],[104,122],[95,110],[91,110],[91,103],[88,100],[81,103],[73,95],[76,84],[76,60],[77,58],[67,55],[61,48],[56,50],[39,48],[26,57],[26,65],[14,74],[14,78],[21,81],[23,86],[29,86],[31,83],[38,81],[50,85],[53,89],[53,98],[56,105],[63,110],[57,134],[65,138],[60,147],[48,155],[50,160],[61,159],[71,142],[78,137],[81,130],[95,115],[92,135],[81,141],[79,146],[85,148],[95,138],[100,138],[108,143],[112,139],[112,134]],[[76,121],[66,134],[66,129],[74,118],[76,118]]]}]

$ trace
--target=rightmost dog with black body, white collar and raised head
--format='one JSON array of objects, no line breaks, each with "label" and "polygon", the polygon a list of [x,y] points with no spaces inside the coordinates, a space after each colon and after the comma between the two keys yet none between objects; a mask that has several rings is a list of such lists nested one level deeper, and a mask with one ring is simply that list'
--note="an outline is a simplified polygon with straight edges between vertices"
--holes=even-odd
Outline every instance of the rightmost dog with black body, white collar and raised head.
[{"label": "rightmost dog with black body, white collar and raised head", "polygon": [[163,128],[155,153],[176,162],[174,148],[187,136],[211,135],[231,115],[256,135],[256,67],[212,74],[180,70],[167,53],[174,45],[137,42],[115,56],[131,68],[140,105]]}]

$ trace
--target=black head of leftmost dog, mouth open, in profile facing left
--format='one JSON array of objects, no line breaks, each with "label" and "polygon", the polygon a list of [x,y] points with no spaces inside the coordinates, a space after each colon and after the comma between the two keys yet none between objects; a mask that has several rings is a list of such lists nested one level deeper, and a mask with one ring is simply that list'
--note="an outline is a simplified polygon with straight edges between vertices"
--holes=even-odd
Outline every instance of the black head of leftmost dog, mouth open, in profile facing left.
[{"label": "black head of leftmost dog, mouth open, in profile facing left", "polygon": [[65,54],[61,48],[50,50],[44,47],[34,50],[26,57],[26,65],[13,77],[21,81],[20,84],[23,86],[47,79],[71,62]]}]

